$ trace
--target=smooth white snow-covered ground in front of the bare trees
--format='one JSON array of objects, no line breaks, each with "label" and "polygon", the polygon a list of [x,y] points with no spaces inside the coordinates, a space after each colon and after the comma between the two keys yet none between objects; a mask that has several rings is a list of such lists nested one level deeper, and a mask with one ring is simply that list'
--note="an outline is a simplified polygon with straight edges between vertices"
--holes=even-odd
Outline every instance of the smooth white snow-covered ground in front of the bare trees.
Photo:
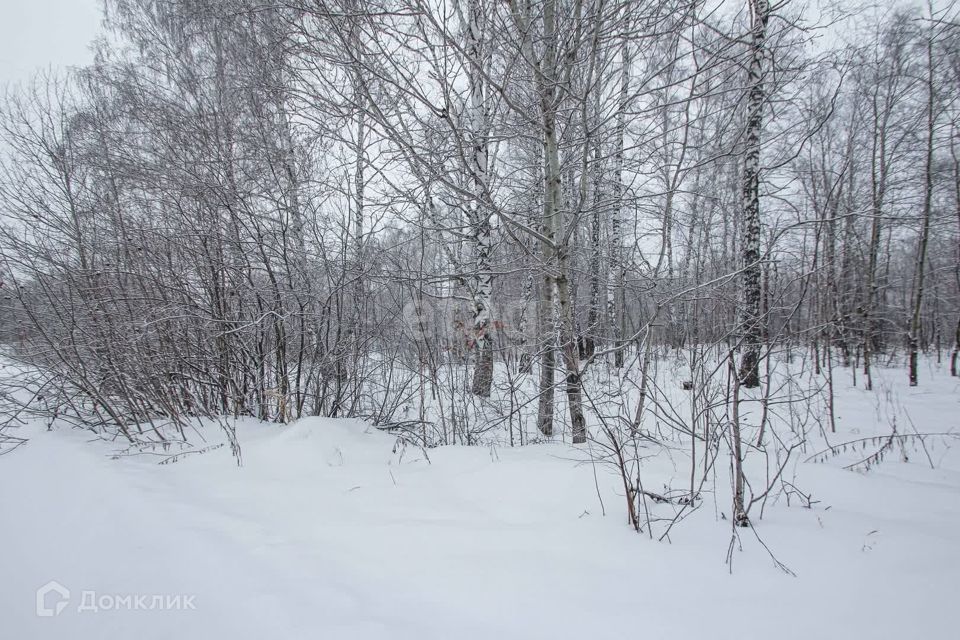
[{"label": "smooth white snow-covered ground in front of the bare trees", "polygon": [[[832,442],[889,433],[884,407],[920,432],[958,427],[956,379],[938,371],[909,390],[902,370],[886,378],[874,393],[838,382]],[[731,572],[726,498],[651,540],[626,526],[611,469],[561,443],[440,447],[428,461],[359,422],[248,422],[238,467],[227,447],[158,465],[112,459],[115,445],[65,427],[17,435],[28,443],[0,456],[4,640],[960,633],[950,439],[867,473],[842,468],[854,454],[791,467],[815,502],[768,505]],[[648,486],[682,486],[670,458],[645,462]],[[41,617],[36,590],[51,580],[69,600]]]}]

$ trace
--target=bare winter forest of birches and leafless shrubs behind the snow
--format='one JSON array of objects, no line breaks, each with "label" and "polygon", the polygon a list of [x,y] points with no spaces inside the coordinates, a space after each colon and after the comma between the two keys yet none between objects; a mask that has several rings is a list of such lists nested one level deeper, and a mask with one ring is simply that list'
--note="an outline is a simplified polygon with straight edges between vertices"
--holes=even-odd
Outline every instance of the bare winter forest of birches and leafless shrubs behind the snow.
[{"label": "bare winter forest of birches and leafless shrubs behind the snow", "polygon": [[0,454],[29,421],[162,462],[243,464],[243,420],[562,443],[644,536],[714,496],[732,562],[816,503],[796,465],[956,437],[838,424],[955,402],[955,3],[103,12],[0,101]]}]

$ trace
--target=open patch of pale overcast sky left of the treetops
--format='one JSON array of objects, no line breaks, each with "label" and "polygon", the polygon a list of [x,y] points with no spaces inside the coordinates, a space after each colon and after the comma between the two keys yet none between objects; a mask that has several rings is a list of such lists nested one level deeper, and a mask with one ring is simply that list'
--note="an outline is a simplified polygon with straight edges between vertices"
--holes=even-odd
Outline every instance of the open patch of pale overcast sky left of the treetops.
[{"label": "open patch of pale overcast sky left of the treetops", "polygon": [[0,0],[0,85],[90,62],[99,29],[100,0]]}]

